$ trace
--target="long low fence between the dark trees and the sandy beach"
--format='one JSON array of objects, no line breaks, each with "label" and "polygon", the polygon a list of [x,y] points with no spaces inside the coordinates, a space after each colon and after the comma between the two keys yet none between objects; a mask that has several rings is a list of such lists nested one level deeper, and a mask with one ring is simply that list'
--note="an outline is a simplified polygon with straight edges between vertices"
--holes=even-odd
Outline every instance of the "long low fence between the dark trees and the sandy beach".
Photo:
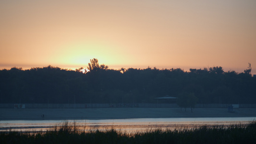
[{"label": "long low fence between the dark trees and the sandy beach", "polygon": [[[17,108],[21,104],[0,104],[0,108]],[[23,104],[25,108],[178,108],[177,104]],[[231,104],[196,104],[195,108],[228,108]],[[256,104],[239,104],[239,108],[256,108]]]}]

